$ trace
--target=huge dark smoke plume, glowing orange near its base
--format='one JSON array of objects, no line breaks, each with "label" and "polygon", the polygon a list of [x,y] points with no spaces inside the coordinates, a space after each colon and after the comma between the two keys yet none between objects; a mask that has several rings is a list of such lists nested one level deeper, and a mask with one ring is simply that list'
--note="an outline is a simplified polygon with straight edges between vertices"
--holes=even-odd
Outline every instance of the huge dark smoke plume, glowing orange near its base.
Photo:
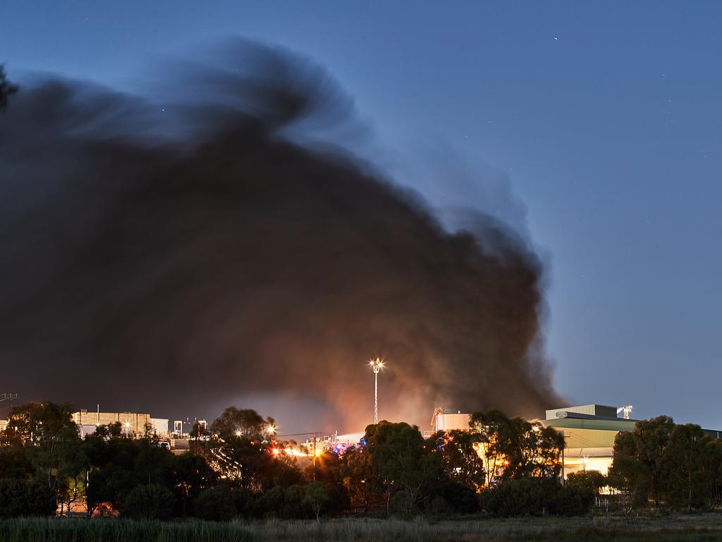
[{"label": "huge dark smoke plume, glowing orange near its base", "polygon": [[449,233],[308,144],[355,125],[317,66],[251,43],[216,58],[165,69],[153,100],[45,79],[0,115],[3,387],[154,416],[312,398],[361,429],[382,356],[382,418],[554,403],[526,243],[484,215]]}]

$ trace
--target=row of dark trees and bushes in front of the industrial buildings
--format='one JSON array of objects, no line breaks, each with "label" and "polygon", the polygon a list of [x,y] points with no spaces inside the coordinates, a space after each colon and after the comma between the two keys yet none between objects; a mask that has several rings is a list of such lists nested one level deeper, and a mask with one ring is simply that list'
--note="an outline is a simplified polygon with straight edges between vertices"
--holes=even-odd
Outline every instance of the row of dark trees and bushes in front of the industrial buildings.
[{"label": "row of dark trees and bushes in front of the industrial buildings", "polygon": [[14,409],[0,433],[0,517],[583,515],[605,486],[627,511],[702,509],[722,488],[722,442],[664,416],[619,433],[609,476],[573,473],[563,486],[562,435],[497,410],[472,414],[469,431],[427,439],[381,421],[357,446],[319,445],[315,457],[313,447],[274,439],[274,420],[250,409],[227,408],[209,432],[195,428],[180,455],[150,434],[126,438],[119,423],[81,439],[71,412],[55,403]]}]

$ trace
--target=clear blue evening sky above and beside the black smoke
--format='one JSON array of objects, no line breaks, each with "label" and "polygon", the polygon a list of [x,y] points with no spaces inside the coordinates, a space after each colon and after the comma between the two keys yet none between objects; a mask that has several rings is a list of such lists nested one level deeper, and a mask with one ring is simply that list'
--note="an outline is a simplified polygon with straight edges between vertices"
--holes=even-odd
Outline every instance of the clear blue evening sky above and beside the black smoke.
[{"label": "clear blue evening sky above and beside the black smoke", "polygon": [[229,35],[310,56],[399,182],[526,228],[562,395],[722,429],[721,27],[716,1],[24,0],[0,62],[133,88]]}]

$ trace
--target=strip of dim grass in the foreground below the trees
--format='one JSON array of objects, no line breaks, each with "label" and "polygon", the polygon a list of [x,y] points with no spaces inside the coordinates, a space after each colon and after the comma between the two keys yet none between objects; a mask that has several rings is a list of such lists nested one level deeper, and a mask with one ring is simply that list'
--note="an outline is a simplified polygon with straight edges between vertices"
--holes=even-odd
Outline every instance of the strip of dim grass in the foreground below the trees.
[{"label": "strip of dim grass in the foreground below the trees", "polygon": [[0,521],[3,542],[722,541],[722,514],[516,520],[269,520],[212,523],[116,519]]}]

